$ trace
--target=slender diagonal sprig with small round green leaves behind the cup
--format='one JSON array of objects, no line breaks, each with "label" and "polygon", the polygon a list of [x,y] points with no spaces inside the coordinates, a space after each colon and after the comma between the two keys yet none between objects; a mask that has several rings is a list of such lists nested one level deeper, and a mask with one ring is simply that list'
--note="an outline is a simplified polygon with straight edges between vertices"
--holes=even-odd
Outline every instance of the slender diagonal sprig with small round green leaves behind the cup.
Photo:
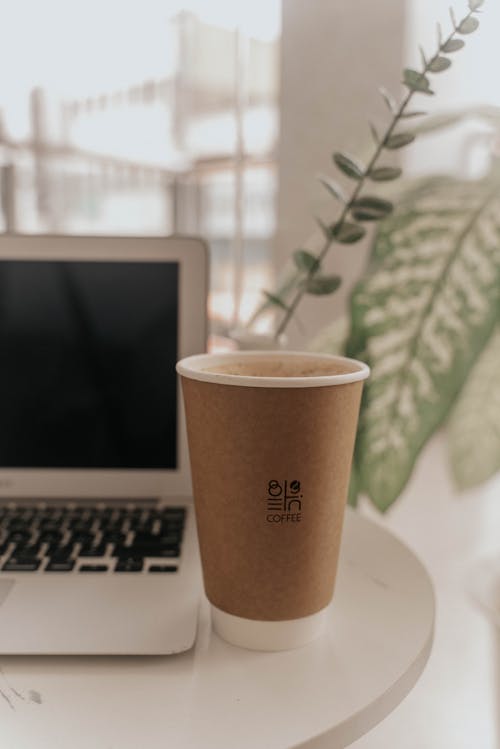
[{"label": "slender diagonal sprig with small round green leaves behind the cup", "polygon": [[327,253],[334,244],[352,245],[361,241],[366,234],[365,223],[380,221],[392,213],[393,203],[377,195],[366,194],[365,185],[368,181],[385,183],[401,176],[399,167],[380,165],[380,157],[387,152],[404,148],[415,140],[415,132],[407,129],[400,130],[399,125],[401,121],[425,114],[425,112],[410,110],[409,106],[414,96],[417,94],[433,95],[429,75],[441,73],[451,66],[449,55],[462,49],[465,45],[463,37],[478,28],[477,14],[483,4],[484,0],[468,0],[469,10],[461,21],[457,21],[454,11],[450,10],[452,31],[446,38],[443,38],[441,27],[438,25],[438,44],[435,54],[428,58],[421,49],[422,69],[417,71],[406,68],[403,71],[402,83],[406,88],[406,93],[399,104],[387,91],[381,89],[391,119],[382,135],[373,125],[370,125],[375,145],[368,162],[362,164],[340,151],[333,154],[335,166],[344,177],[355,183],[354,187],[349,194],[346,194],[341,185],[329,176],[320,178],[324,187],[341,206],[333,222],[327,224],[319,221],[324,235],[323,247],[317,255],[305,249],[298,249],[293,253],[295,272],[277,291],[264,292],[265,303],[254,315],[250,325],[263,311],[273,308],[281,315],[275,330],[275,338],[278,339],[286,330],[304,296],[310,294],[325,296],[334,293],[339,288],[342,282],[340,276],[325,275],[322,271]]}]

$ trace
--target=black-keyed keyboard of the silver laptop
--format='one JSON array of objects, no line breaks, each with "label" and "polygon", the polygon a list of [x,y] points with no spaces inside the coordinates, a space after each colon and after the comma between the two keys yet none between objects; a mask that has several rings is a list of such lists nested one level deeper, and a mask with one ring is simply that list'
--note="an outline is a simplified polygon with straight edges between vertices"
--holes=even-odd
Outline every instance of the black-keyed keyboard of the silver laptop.
[{"label": "black-keyed keyboard of the silver laptop", "polygon": [[3,572],[177,572],[185,507],[0,507]]}]

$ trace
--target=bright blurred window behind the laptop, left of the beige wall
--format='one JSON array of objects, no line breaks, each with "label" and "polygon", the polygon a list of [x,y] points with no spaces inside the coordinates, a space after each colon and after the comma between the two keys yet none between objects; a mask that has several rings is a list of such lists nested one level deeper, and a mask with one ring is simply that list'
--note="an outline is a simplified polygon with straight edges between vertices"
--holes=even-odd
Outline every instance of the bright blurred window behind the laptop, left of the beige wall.
[{"label": "bright blurred window behind the laptop, left of the beige wall", "polygon": [[279,0],[43,6],[3,19],[3,229],[201,234],[227,333],[271,282]]}]

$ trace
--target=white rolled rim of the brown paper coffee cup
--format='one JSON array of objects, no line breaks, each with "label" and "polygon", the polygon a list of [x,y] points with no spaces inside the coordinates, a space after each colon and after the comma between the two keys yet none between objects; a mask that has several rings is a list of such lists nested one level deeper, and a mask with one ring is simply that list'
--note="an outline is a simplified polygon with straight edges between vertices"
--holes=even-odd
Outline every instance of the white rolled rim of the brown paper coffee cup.
[{"label": "white rolled rim of the brown paper coffee cup", "polygon": [[[308,358],[316,361],[348,362],[353,365],[353,372],[342,374],[318,375],[306,377],[259,377],[252,375],[223,374],[207,372],[203,367],[219,366],[226,362],[241,359],[276,359],[276,358]],[[234,385],[237,387],[266,387],[266,388],[305,388],[327,387],[331,385],[345,385],[351,382],[366,380],[370,368],[364,362],[347,356],[315,353],[312,351],[231,351],[218,354],[196,354],[181,359],[176,364],[176,370],[181,377],[199,382],[210,382],[218,385]]]}]

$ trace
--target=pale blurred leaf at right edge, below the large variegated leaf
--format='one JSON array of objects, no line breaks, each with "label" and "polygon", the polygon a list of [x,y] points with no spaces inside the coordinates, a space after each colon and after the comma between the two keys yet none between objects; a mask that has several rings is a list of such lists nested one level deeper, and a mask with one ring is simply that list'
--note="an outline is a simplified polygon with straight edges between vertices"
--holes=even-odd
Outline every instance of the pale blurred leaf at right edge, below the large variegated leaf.
[{"label": "pale blurred leaf at right edge, below the large variegated leaf", "polygon": [[475,363],[448,423],[453,477],[460,489],[500,470],[500,329]]}]

